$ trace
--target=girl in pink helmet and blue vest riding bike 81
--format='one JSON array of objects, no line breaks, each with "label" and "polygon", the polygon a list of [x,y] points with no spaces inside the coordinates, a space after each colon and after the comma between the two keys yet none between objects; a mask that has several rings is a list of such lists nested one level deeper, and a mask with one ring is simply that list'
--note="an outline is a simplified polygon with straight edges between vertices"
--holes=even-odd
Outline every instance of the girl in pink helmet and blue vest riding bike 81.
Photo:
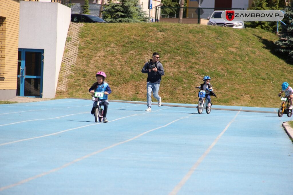
[{"label": "girl in pink helmet and blue vest riding bike 81", "polygon": [[[97,72],[96,74],[96,78],[97,78],[97,82],[95,82],[91,88],[88,89],[88,91],[93,94],[95,92],[104,92],[104,96],[102,98],[100,98],[100,105],[104,106],[104,113],[103,113],[103,122],[108,122],[106,115],[107,115],[107,111],[108,111],[108,94],[110,94],[112,91],[108,85],[108,83],[104,82],[105,78],[106,78],[106,74],[102,71]],[[91,114],[95,113],[95,107],[97,105],[97,102],[94,101],[93,103],[93,108],[91,110]]]}]

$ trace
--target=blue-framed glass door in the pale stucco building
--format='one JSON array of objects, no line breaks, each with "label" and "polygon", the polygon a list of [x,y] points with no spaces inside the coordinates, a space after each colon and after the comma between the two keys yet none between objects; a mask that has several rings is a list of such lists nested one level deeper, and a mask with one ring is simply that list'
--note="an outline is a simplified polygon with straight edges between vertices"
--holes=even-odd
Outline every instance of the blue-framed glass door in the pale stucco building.
[{"label": "blue-framed glass door in the pale stucco building", "polygon": [[43,59],[42,49],[18,49],[16,95],[42,97]]}]

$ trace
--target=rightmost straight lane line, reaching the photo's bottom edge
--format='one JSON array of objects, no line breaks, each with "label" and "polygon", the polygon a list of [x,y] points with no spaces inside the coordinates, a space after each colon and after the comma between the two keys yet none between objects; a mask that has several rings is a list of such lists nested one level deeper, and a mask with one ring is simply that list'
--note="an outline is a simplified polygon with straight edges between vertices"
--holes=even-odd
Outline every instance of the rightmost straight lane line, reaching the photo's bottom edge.
[{"label": "rightmost straight lane line, reaching the photo's bottom edge", "polygon": [[[241,110],[242,108],[240,108]],[[176,195],[178,193],[178,191],[183,187],[183,185],[187,182],[187,180],[191,177],[191,175],[193,174],[193,172],[195,171],[195,169],[198,167],[198,165],[200,165],[200,163],[203,161],[203,159],[207,156],[207,154],[212,150],[212,148],[214,147],[214,145],[217,144],[217,142],[219,141],[219,139],[222,137],[222,135],[226,132],[226,130],[228,129],[228,127],[231,125],[232,122],[235,121],[236,117],[238,116],[238,114],[240,113],[240,111],[237,112],[237,114],[235,115],[235,117],[228,123],[228,125],[225,127],[225,129],[218,135],[218,137],[214,140],[214,142],[209,146],[209,148],[205,151],[205,153],[203,153],[203,155],[196,161],[196,163],[190,168],[190,170],[188,171],[188,173],[183,177],[183,179],[174,187],[174,189],[169,193],[169,195]]]}]

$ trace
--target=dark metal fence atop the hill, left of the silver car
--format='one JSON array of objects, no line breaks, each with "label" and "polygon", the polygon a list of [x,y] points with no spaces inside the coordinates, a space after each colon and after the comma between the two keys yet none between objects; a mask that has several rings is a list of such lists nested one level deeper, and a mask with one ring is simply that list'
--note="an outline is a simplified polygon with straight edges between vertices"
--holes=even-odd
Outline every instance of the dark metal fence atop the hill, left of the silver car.
[{"label": "dark metal fence atop the hill, left of the silver car", "polygon": [[[160,18],[157,20],[163,21],[177,21],[179,17],[180,7],[158,7],[161,9]],[[215,10],[243,10],[244,8],[199,8],[199,7],[182,7],[183,9],[183,19],[185,23],[201,23],[201,19],[207,20],[208,17],[212,15]],[[158,11],[159,12],[159,11]],[[167,19],[168,18],[168,19]],[[176,20],[177,18],[177,20]]]}]

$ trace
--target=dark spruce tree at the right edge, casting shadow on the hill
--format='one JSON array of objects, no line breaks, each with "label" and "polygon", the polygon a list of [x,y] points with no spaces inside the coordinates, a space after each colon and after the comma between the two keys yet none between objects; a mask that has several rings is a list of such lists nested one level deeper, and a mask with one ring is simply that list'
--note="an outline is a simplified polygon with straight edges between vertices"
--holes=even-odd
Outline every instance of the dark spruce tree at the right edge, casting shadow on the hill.
[{"label": "dark spruce tree at the right edge, casting shadow on the hill", "polygon": [[285,9],[284,19],[286,25],[283,26],[280,35],[280,40],[275,42],[277,52],[288,56],[287,60],[293,62],[293,6],[288,6]]}]

